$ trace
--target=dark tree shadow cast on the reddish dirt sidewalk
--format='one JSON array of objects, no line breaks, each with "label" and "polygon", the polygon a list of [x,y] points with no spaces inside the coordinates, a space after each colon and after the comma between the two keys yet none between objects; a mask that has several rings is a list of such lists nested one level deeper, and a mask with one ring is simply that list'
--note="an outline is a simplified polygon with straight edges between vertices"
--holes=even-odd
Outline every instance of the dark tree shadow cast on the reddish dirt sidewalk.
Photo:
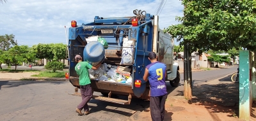
[{"label": "dark tree shadow cast on the reddish dirt sidewalk", "polygon": [[[236,117],[239,113],[239,83],[232,83],[230,77],[193,86],[193,98],[188,101],[189,104],[203,105],[209,112],[230,113],[228,117]],[[179,91],[178,95],[183,96],[183,91]]]}]

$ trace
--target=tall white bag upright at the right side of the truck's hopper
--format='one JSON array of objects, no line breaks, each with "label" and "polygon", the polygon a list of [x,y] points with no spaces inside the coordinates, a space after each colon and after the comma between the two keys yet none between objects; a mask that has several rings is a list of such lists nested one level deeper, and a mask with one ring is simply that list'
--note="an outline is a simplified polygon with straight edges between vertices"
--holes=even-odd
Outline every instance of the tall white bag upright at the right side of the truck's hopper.
[{"label": "tall white bag upright at the right side of the truck's hopper", "polygon": [[123,39],[123,50],[122,50],[122,59],[121,65],[132,65],[133,62],[133,47],[134,43],[132,40],[128,40],[128,38]]}]

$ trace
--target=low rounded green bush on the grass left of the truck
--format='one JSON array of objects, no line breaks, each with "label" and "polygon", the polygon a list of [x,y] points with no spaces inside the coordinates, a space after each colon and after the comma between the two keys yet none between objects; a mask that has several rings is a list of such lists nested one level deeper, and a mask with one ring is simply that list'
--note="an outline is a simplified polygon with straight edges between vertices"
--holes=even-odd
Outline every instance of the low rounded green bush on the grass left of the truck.
[{"label": "low rounded green bush on the grass left of the truck", "polygon": [[64,68],[65,64],[58,61],[47,62],[45,65],[45,69],[52,70],[53,72],[56,72],[57,70],[63,71]]}]

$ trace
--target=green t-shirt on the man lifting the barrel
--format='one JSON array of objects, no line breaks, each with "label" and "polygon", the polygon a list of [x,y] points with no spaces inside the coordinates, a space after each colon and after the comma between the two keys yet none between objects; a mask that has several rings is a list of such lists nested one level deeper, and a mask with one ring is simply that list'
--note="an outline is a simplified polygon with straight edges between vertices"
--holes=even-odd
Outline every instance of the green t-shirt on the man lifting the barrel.
[{"label": "green t-shirt on the man lifting the barrel", "polygon": [[88,85],[91,83],[88,69],[92,69],[92,65],[88,62],[78,62],[75,70],[79,76],[79,85]]}]

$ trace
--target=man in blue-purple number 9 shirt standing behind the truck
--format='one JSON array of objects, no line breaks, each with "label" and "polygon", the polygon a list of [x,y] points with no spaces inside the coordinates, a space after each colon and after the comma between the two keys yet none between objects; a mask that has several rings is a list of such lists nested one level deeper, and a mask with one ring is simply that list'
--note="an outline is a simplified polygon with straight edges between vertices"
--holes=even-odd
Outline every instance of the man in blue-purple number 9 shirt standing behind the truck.
[{"label": "man in blue-purple number 9 shirt standing behind the truck", "polygon": [[166,65],[157,61],[156,53],[150,52],[143,80],[150,83],[150,114],[153,121],[164,120],[164,104],[167,98]]}]

